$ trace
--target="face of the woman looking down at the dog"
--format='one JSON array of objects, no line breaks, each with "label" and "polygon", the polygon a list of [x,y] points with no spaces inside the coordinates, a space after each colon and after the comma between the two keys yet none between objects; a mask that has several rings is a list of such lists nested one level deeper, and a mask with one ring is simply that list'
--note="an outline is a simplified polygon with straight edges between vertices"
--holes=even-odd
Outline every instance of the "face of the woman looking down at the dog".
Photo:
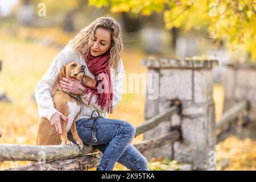
[{"label": "face of the woman looking down at the dog", "polygon": [[105,28],[97,28],[94,38],[90,43],[90,54],[94,57],[100,56],[110,48],[111,32]]}]

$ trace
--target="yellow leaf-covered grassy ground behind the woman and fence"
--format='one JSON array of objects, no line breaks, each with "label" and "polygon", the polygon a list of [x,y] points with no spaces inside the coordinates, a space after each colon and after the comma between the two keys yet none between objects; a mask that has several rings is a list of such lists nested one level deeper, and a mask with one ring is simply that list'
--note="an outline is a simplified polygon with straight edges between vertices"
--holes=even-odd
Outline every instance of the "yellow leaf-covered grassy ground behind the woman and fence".
[{"label": "yellow leaf-covered grassy ground behind the woman and fence", "polygon": [[[13,99],[13,103],[0,104],[0,133],[1,143],[34,144],[36,125],[38,123],[38,107],[33,101],[34,90],[37,82],[42,78],[54,57],[60,51],[59,48],[42,46],[25,40],[30,37],[46,35],[63,44],[71,35],[57,36],[59,30],[24,30],[15,32],[16,38],[6,35],[0,30],[0,59],[3,60],[3,69],[0,73],[0,88]],[[62,39],[57,39],[62,37]],[[123,52],[123,64],[126,76],[128,73],[146,73],[146,67],[142,67],[143,53],[135,49],[126,48]],[[216,119],[221,117],[224,90],[220,85],[214,86],[214,102],[216,103]],[[113,114],[109,118],[122,119],[138,126],[144,120],[145,94],[124,93]],[[141,142],[142,135],[136,137],[133,143]],[[217,169],[256,169],[256,143],[253,140],[239,140],[230,137],[217,145]],[[222,163],[229,165],[222,165]],[[26,162],[3,162],[0,169],[15,167]],[[168,159],[154,159],[150,162],[150,169],[165,170],[174,164]],[[224,166],[224,167],[221,167]],[[125,167],[115,165],[115,170],[123,170]]]}]

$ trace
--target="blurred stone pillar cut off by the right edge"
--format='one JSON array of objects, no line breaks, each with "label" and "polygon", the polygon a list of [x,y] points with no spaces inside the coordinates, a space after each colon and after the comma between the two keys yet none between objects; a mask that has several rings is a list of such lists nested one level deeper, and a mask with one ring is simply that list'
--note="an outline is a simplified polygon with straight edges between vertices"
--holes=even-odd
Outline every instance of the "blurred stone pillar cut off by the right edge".
[{"label": "blurred stone pillar cut off by the right edge", "polygon": [[226,65],[222,85],[225,89],[224,111],[241,100],[250,102],[249,120],[244,126],[239,126],[236,134],[242,139],[256,139],[256,65]]}]

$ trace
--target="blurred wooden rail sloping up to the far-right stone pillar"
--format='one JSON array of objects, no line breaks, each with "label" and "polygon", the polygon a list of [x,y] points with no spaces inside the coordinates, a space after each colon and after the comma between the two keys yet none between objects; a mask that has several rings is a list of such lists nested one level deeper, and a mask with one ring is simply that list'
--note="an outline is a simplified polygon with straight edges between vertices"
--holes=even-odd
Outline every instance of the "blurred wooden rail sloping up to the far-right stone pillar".
[{"label": "blurred wooden rail sloping up to the far-right stone pillar", "polygon": [[224,125],[236,119],[238,114],[244,110],[247,110],[248,108],[249,102],[245,100],[238,102],[223,114],[223,117],[216,123],[215,129],[221,129]]}]

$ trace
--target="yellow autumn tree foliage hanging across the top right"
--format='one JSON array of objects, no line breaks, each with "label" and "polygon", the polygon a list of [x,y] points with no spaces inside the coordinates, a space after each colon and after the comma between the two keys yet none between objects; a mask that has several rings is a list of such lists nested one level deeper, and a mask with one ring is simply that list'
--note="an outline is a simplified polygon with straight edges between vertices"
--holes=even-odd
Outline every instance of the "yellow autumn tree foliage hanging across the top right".
[{"label": "yellow autumn tree foliage hanging across the top right", "polygon": [[233,50],[242,45],[248,59],[256,60],[255,0],[89,0],[89,5],[110,6],[112,13],[163,12],[167,30],[174,27],[186,31],[206,29],[217,43],[224,41]]}]

